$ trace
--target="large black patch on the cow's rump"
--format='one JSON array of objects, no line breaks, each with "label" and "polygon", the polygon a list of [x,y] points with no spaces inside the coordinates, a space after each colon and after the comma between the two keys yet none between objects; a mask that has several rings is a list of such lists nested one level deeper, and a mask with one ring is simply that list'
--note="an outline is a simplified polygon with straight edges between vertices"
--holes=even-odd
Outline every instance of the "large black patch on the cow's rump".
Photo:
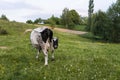
[{"label": "large black patch on the cow's rump", "polygon": [[46,43],[47,39],[50,39],[50,42],[52,41],[52,37],[53,37],[53,32],[46,28],[45,30],[43,30],[41,33],[42,36],[42,40]]}]

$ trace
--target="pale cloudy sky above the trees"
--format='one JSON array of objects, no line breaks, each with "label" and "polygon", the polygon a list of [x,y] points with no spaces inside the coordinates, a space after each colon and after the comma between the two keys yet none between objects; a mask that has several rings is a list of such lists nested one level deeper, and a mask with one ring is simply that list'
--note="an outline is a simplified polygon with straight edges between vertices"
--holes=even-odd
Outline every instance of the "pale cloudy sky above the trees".
[{"label": "pale cloudy sky above the trees", "polygon": [[[106,11],[116,0],[94,0],[94,12]],[[89,0],[0,0],[0,16],[10,21],[26,22],[36,18],[60,17],[64,8],[75,9],[79,15],[88,15]]]}]

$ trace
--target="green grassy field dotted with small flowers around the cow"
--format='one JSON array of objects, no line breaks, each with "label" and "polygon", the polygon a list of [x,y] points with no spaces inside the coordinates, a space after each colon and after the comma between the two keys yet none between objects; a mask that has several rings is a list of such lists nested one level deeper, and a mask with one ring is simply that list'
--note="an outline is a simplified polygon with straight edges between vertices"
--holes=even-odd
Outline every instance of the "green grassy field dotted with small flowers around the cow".
[{"label": "green grassy field dotted with small flowers around the cow", "polygon": [[29,35],[34,25],[0,21],[8,35],[0,35],[0,80],[119,80],[120,44],[102,43],[80,35],[54,31],[59,38],[55,61],[44,66],[44,56],[35,59],[36,50]]}]

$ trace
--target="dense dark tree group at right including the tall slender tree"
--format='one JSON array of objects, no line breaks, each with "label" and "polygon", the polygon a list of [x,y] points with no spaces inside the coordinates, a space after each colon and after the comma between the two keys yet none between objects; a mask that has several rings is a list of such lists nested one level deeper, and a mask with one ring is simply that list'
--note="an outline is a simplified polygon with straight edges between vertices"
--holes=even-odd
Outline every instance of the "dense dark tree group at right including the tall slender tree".
[{"label": "dense dark tree group at right including the tall slender tree", "polygon": [[94,36],[108,42],[120,42],[120,0],[113,3],[106,12],[93,13],[93,0],[89,2],[89,17],[86,27]]}]

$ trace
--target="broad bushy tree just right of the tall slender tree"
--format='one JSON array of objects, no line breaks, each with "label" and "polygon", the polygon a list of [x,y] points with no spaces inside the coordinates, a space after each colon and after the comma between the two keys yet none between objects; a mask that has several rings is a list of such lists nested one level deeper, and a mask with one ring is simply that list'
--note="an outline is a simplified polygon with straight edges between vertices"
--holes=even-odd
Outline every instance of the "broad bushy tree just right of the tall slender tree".
[{"label": "broad bushy tree just right of the tall slender tree", "polygon": [[107,14],[99,10],[93,15],[93,22],[91,27],[91,32],[95,36],[99,36],[103,40],[110,40],[111,35],[111,21],[109,20]]}]

